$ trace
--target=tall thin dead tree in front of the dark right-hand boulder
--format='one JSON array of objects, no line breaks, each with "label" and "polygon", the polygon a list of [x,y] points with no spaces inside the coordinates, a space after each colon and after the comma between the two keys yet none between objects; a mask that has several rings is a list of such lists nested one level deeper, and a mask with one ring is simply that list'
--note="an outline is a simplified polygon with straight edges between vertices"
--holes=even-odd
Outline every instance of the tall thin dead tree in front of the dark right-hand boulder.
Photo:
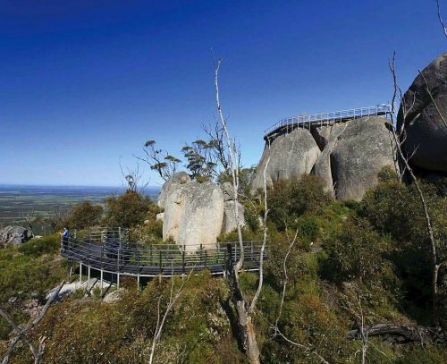
[{"label": "tall thin dead tree in front of the dark right-hand boulder", "polygon": [[[403,110],[402,114],[404,115],[403,121],[401,124],[401,129],[399,131],[395,131],[394,129],[394,101],[398,97],[398,93],[401,96],[401,89],[398,86],[397,83],[397,73],[396,73],[396,66],[395,66],[395,52],[392,55],[392,60],[389,62],[389,68],[390,72],[392,73],[392,80],[393,80],[393,96],[392,96],[392,112],[391,112],[391,119],[392,119],[392,139],[394,141],[394,146],[396,148],[396,151],[398,153],[398,157],[400,158],[400,162],[405,168],[406,173],[409,175],[409,178],[411,179],[411,182],[414,183],[417,195],[420,200],[421,206],[423,208],[424,218],[426,221],[426,233],[428,237],[428,241],[430,244],[430,253],[431,253],[431,260],[432,260],[432,312],[433,312],[433,324],[434,326],[439,326],[439,315],[438,315],[438,281],[439,281],[439,269],[443,266],[445,262],[441,261],[440,256],[437,251],[437,242],[434,238],[434,229],[432,224],[432,219],[430,217],[430,214],[428,212],[428,205],[426,202],[426,198],[424,196],[424,192],[421,189],[420,183],[417,180],[417,176],[414,174],[413,169],[411,165],[409,165],[409,159],[411,156],[407,156],[405,152],[403,151],[403,142],[402,140],[405,140],[405,115],[409,113],[409,110]],[[424,79],[425,80],[425,79]],[[426,84],[426,89],[428,90],[428,93],[430,93],[430,90],[428,88],[428,85]],[[401,98],[401,105],[403,108],[405,108],[405,99],[404,97]],[[432,97],[432,100],[434,102],[434,99]],[[435,103],[434,103],[435,104]]]}]

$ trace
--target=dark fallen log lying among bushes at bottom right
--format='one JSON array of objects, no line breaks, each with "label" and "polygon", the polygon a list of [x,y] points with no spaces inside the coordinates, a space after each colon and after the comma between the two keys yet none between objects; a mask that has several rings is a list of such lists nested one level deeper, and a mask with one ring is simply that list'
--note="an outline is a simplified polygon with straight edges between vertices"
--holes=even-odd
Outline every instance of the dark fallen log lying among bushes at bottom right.
[{"label": "dark fallen log lying among bushes at bottom right", "polygon": [[[443,342],[445,340],[445,333],[439,328],[401,324],[376,324],[373,326],[364,326],[363,335],[367,337],[386,335],[387,337],[384,340],[386,343],[411,343],[428,340]],[[348,338],[351,340],[361,339],[361,337],[361,328],[351,330],[348,333]]]}]

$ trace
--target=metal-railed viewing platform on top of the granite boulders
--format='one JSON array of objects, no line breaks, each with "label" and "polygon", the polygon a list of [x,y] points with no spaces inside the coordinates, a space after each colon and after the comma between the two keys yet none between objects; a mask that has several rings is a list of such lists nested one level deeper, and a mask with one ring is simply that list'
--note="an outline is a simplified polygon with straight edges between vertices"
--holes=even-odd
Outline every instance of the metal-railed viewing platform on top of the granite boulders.
[{"label": "metal-railed viewing platform on top of the granite boulders", "polygon": [[392,106],[389,104],[379,104],[376,106],[358,107],[341,111],[320,114],[299,114],[280,120],[266,129],[264,139],[268,140],[280,132],[291,132],[296,128],[305,128],[311,125],[333,125],[334,123],[347,122],[352,119],[358,119],[365,116],[388,115],[392,112]]}]

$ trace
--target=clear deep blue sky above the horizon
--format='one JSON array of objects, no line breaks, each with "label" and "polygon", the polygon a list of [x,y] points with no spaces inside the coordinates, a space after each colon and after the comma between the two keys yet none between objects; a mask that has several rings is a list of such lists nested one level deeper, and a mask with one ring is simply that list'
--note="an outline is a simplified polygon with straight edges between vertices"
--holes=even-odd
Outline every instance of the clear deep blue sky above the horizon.
[{"label": "clear deep blue sky above the horizon", "polygon": [[277,120],[389,101],[392,52],[407,89],[445,42],[434,0],[0,0],[0,183],[121,185],[148,139],[180,155],[215,118],[211,47],[254,165]]}]

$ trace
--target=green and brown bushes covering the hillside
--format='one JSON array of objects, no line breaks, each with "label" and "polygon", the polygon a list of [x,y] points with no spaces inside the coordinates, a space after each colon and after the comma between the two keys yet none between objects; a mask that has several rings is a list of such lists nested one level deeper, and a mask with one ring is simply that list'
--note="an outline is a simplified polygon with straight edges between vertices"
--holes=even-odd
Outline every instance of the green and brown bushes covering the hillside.
[{"label": "green and brown bushes covering the hillside", "polygon": [[[279,182],[269,189],[268,260],[254,314],[263,362],[319,363],[319,355],[331,363],[358,363],[362,341],[349,339],[348,332],[361,322],[365,326],[431,325],[429,242],[422,207],[414,186],[398,182],[390,171],[384,171],[380,179],[361,202],[333,201],[315,176]],[[439,254],[445,257],[447,198],[434,185],[423,184],[423,189]],[[133,193],[114,198],[110,206],[122,204],[121,208],[110,209],[105,218],[110,218],[109,222],[127,221],[139,233],[139,239],[158,241],[161,224],[155,219],[155,205]],[[253,216],[263,209],[256,201],[247,203]],[[142,224],[146,219],[149,224]],[[262,227],[247,224],[243,233],[247,239],[257,239]],[[291,247],[295,234],[296,244]],[[222,240],[232,238],[234,233]],[[290,247],[285,261],[288,280],[279,315],[286,278],[284,258]],[[64,263],[55,260],[56,250],[53,237],[1,252],[2,305],[17,292],[23,292],[21,301],[26,301],[33,292],[43,294],[58,282]],[[30,270],[36,276],[32,283]],[[443,329],[447,324],[445,279],[444,267],[438,302]],[[253,296],[257,280],[257,274],[243,273],[243,292]],[[137,291],[135,280],[127,279],[122,300],[115,304],[106,304],[94,295],[66,299],[49,310],[32,338],[37,341],[41,335],[47,337],[47,363],[148,362],[158,308],[164,312],[171,284],[170,279],[154,279]],[[173,278],[173,284],[179,286],[181,277]],[[10,312],[16,312],[14,317],[21,322],[27,319],[20,309]],[[246,362],[234,334],[234,314],[225,278],[212,277],[206,271],[192,276],[168,316],[156,362]],[[10,327],[0,323],[4,339]],[[283,336],[274,330],[275,323]],[[429,338],[424,343],[389,341],[388,336],[369,337],[367,362],[447,361],[446,343]],[[0,343],[0,352],[5,345]],[[27,347],[21,344],[16,351],[13,362],[30,362]]]}]

